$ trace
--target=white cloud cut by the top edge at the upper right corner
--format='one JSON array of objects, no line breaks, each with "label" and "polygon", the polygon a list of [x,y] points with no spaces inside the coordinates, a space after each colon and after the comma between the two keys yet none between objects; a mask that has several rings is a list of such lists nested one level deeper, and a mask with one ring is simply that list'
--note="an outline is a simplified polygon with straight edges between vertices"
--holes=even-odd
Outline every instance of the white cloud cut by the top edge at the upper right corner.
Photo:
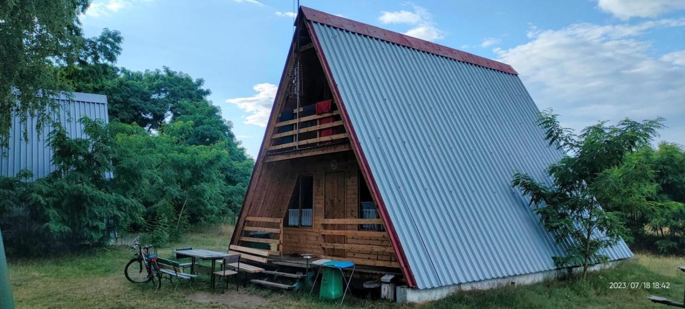
[{"label": "white cloud cut by the top edge at the upper right corner", "polygon": [[683,0],[597,0],[597,7],[626,21],[632,17],[651,17],[684,10]]}]

